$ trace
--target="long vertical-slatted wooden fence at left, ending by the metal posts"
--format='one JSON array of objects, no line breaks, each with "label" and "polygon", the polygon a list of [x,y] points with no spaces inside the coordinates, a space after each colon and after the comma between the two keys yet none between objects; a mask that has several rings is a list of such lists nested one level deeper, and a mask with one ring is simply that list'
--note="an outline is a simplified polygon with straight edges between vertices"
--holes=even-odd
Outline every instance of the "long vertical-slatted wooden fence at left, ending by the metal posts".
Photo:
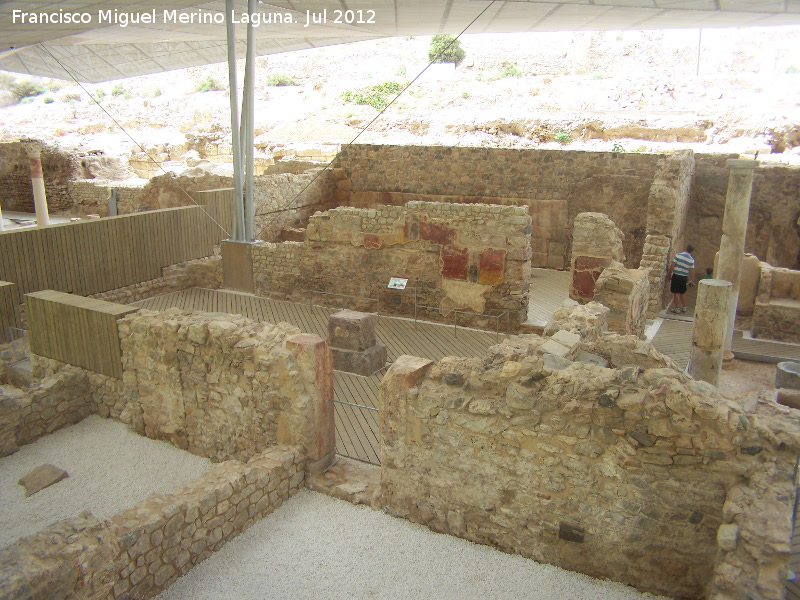
[{"label": "long vertical-slatted wooden fence at left, ending by the metal posts", "polygon": [[20,294],[80,296],[157,279],[163,267],[210,256],[231,231],[232,190],[198,192],[195,200],[201,206],[2,232],[0,279]]}]

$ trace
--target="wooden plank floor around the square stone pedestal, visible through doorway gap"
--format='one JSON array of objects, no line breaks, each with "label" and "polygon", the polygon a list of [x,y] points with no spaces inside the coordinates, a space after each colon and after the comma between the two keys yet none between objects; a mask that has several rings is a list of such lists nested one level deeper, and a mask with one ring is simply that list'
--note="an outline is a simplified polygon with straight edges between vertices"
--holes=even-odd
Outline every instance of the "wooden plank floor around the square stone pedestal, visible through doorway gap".
[{"label": "wooden plank floor around the square stone pedestal, visible through doorway gap", "polygon": [[[323,339],[328,336],[328,315],[339,310],[200,288],[149,298],[136,302],[135,306],[150,310],[180,308],[221,312],[244,315],[254,321],[286,322]],[[386,346],[389,362],[402,354],[433,360],[445,356],[483,357],[489,346],[505,337],[461,327],[454,330],[452,326],[434,323],[415,325],[413,320],[386,316],[377,320],[375,335],[379,343]],[[385,369],[371,377],[334,373],[336,451],[342,456],[380,463],[378,413],[357,406],[378,407],[378,385],[384,373]]]}]

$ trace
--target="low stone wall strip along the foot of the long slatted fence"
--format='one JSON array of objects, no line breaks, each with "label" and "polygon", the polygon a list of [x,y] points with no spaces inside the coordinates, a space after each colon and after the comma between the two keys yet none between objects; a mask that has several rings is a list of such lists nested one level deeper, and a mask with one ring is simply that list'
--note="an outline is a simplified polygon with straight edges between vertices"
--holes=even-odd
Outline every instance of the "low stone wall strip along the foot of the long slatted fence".
[{"label": "low stone wall strip along the foot of the long slatted fence", "polygon": [[163,277],[143,281],[116,290],[93,294],[90,298],[130,304],[146,298],[199,287],[216,290],[222,287],[222,259],[220,256],[198,258],[164,267]]}]

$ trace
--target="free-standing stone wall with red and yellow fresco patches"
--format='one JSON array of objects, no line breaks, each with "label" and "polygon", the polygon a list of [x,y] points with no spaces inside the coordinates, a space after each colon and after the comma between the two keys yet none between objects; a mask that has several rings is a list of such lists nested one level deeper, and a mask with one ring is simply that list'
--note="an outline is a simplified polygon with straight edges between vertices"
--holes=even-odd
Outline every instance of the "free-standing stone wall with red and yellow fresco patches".
[{"label": "free-standing stone wall with red and yellow fresco patches", "polygon": [[[530,286],[527,207],[409,202],[373,209],[337,208],[311,217],[303,243],[253,247],[256,292],[307,301],[311,290],[366,298],[381,311],[414,314],[414,292],[387,290],[390,277],[416,287],[421,318],[452,309],[525,320]],[[337,300],[338,301],[338,300]],[[348,300],[351,302],[351,300]],[[349,308],[375,311],[376,302]],[[493,320],[482,319],[495,327]],[[468,316],[459,323],[469,324]],[[502,323],[505,325],[505,321]]]}]

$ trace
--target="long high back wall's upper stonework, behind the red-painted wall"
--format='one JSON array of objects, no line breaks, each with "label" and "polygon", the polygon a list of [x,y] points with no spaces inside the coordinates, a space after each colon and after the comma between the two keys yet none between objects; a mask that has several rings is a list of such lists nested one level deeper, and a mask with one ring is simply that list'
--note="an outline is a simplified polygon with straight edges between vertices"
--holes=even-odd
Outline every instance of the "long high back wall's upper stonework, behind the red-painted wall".
[{"label": "long high back wall's upper stonework, behind the red-painted wall", "polygon": [[[561,229],[561,215],[566,212],[567,231],[578,213],[603,212],[625,233],[626,266],[635,268],[659,158],[638,153],[356,144],[342,150],[334,166],[341,169],[336,177],[342,205],[362,205],[366,198],[359,194],[372,192],[455,196],[458,202],[510,198],[528,206],[534,222],[537,212],[545,209],[548,216],[539,225],[543,228]],[[383,194],[367,198],[375,203],[390,201]],[[545,246],[551,251],[557,250],[555,244],[564,244],[561,264],[568,264],[569,238],[542,235],[541,239],[547,239]]]}]

